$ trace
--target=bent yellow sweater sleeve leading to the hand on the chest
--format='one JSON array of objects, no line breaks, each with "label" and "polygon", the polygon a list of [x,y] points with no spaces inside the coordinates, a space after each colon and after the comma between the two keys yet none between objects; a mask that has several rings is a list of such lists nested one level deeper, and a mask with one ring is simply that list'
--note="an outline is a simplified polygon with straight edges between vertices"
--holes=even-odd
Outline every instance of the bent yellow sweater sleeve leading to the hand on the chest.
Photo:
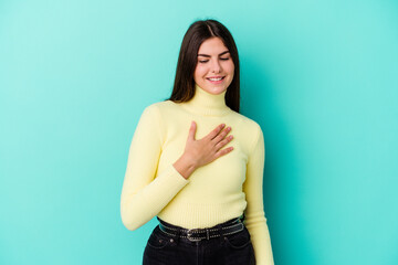
[{"label": "bent yellow sweater sleeve leading to the hand on the chest", "polygon": [[122,188],[121,215],[128,230],[150,221],[189,182],[172,163],[156,176],[164,129],[158,107],[147,106],[133,136]]}]

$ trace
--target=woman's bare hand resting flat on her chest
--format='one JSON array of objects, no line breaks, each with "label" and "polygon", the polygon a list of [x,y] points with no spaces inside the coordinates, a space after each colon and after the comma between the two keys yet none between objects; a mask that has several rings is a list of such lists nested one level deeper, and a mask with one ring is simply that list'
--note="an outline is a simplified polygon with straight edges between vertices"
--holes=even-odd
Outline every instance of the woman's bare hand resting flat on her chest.
[{"label": "woman's bare hand resting flat on her chest", "polygon": [[185,151],[174,163],[176,170],[184,178],[188,179],[197,168],[208,165],[233,150],[233,147],[221,149],[233,139],[232,135],[226,137],[231,131],[231,128],[228,127],[222,130],[223,127],[224,125],[221,124],[200,140],[196,140],[196,123],[191,123]]}]

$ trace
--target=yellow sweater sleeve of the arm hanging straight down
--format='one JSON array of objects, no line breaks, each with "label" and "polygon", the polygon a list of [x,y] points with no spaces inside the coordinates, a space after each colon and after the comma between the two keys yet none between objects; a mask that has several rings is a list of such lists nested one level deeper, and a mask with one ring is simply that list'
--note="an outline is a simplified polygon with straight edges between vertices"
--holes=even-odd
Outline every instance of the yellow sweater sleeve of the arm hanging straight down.
[{"label": "yellow sweater sleeve of the arm hanging straight down", "polygon": [[254,138],[252,151],[247,166],[247,180],[243,190],[247,198],[244,224],[248,227],[258,265],[273,265],[270,232],[263,206],[263,170],[265,160],[264,137],[256,124],[258,136]]}]

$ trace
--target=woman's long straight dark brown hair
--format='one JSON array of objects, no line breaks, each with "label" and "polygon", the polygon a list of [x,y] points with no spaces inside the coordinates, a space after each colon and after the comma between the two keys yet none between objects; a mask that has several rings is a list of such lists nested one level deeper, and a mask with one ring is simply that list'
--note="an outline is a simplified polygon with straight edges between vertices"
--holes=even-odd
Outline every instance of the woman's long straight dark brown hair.
[{"label": "woman's long straight dark brown hair", "polygon": [[193,73],[198,63],[198,51],[202,42],[218,36],[229,50],[234,64],[233,80],[226,93],[226,104],[239,113],[240,106],[240,71],[235,42],[229,30],[216,20],[198,20],[187,30],[178,56],[176,78],[171,96],[165,100],[188,102],[195,95]]}]

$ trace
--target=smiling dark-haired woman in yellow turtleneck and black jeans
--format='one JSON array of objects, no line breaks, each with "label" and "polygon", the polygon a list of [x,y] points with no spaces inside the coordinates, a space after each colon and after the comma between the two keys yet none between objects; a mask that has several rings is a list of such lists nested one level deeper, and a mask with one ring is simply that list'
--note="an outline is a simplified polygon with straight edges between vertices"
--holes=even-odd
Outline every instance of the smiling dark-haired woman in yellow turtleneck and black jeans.
[{"label": "smiling dark-haired woman in yellow turtleneck and black jeans", "polygon": [[159,221],[145,265],[273,264],[263,132],[239,114],[239,97],[231,33],[216,20],[196,21],[182,40],[170,98],[144,109],[129,149],[122,221],[128,230]]}]

